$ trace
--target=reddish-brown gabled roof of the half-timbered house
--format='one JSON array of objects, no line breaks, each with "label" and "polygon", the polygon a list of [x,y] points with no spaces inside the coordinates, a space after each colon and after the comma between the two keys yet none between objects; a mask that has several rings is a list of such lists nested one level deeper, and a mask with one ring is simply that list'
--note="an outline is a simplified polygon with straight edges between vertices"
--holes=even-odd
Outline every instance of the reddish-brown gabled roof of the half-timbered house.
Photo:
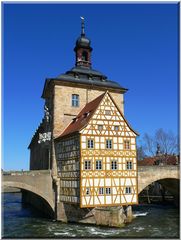
[{"label": "reddish-brown gabled roof of the half-timbered house", "polygon": [[[108,91],[106,91],[105,93],[101,94],[99,97],[95,98],[93,101],[87,103],[85,105],[85,107],[80,111],[80,113],[72,120],[72,122],[67,126],[67,128],[63,131],[63,133],[58,136],[56,138],[56,140],[58,140],[59,138],[72,134],[72,133],[76,133],[79,132],[80,130],[82,130],[84,127],[86,127],[86,125],[88,124],[89,120],[92,118],[93,114],[95,113],[95,111],[97,110],[99,104],[101,103],[102,99],[104,98],[104,96],[108,94],[109,97],[111,98],[111,100],[113,101],[113,103],[115,104],[115,106],[117,107],[117,109],[119,110],[117,104],[114,102],[114,99],[111,97],[111,95],[109,94]],[[126,124],[128,125],[128,127],[136,134],[139,135],[136,131],[134,131],[131,126],[129,125],[129,123],[127,122],[127,120],[125,119],[125,117],[123,116],[123,114],[121,113],[121,111],[119,110],[121,116],[123,117],[124,121],[126,122]]]}]

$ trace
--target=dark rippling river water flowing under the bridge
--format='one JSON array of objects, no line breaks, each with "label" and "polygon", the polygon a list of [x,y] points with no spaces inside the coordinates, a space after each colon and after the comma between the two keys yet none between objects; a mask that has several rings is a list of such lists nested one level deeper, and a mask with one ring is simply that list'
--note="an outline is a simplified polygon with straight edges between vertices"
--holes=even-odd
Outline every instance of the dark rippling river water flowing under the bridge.
[{"label": "dark rippling river water flowing under the bridge", "polygon": [[2,198],[3,238],[179,238],[179,209],[173,205],[133,207],[136,218],[123,228],[64,224],[21,203],[21,193]]}]

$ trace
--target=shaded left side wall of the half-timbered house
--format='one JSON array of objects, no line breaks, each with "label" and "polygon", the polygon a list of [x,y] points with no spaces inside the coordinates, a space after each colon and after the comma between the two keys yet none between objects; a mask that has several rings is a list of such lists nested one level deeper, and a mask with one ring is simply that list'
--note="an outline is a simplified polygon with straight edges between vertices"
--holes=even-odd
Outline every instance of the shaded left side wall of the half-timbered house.
[{"label": "shaded left side wall of the half-timbered house", "polygon": [[56,144],[57,168],[60,177],[59,200],[63,202],[79,202],[79,135],[74,134],[59,139]]}]

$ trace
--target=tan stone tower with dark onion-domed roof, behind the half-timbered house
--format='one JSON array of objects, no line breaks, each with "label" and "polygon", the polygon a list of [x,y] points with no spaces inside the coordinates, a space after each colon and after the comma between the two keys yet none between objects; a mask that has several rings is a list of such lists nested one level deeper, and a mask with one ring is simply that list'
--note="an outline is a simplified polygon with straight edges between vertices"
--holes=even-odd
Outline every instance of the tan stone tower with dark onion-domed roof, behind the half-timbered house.
[{"label": "tan stone tower with dark onion-domed roof, behind the half-timbered house", "polygon": [[42,93],[45,114],[29,145],[30,170],[51,169],[56,179],[54,139],[63,132],[85,104],[105,91],[109,91],[124,114],[124,93],[127,89],[92,68],[92,50],[82,18],[81,34],[74,48],[75,66],[65,74],[47,78],[45,81]]}]

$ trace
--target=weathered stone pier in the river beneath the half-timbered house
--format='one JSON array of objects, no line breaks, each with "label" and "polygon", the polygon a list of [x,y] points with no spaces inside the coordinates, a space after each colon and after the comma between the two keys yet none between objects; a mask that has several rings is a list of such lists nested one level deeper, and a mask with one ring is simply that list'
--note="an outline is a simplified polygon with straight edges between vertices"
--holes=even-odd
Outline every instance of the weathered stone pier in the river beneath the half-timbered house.
[{"label": "weathered stone pier in the river beneath the half-timbered house", "polygon": [[57,208],[57,220],[62,222],[80,222],[110,227],[122,227],[133,219],[131,206],[80,208],[76,204],[60,202]]}]

